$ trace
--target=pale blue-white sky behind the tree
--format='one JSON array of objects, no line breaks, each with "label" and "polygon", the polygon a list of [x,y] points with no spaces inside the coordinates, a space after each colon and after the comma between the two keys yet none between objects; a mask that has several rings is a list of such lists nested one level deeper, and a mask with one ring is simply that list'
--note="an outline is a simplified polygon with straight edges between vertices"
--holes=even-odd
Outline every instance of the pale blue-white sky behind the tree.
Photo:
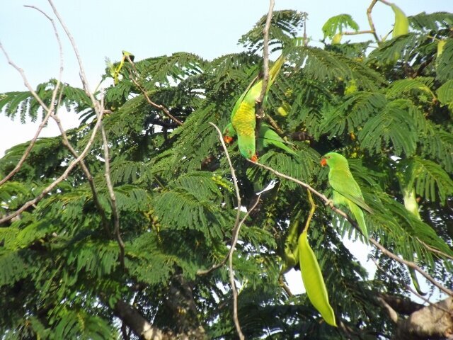
[{"label": "pale blue-white sky behind the tree", "polygon": [[[193,52],[207,60],[241,52],[237,41],[268,12],[267,0],[54,0],[79,47],[90,88],[94,89],[105,69],[105,58],[119,61],[127,50],[136,60],[174,52]],[[57,40],[50,22],[41,13],[23,5],[37,6],[51,15],[45,0],[4,0],[0,11],[0,42],[13,62],[24,69],[33,87],[55,78],[59,70]],[[453,11],[453,0],[394,0],[407,16],[420,12]],[[293,9],[308,13],[306,33],[310,45],[322,46],[323,24],[341,13],[349,13],[361,30],[369,29],[366,10],[371,0],[275,0],[275,11]],[[392,28],[394,13],[380,2],[374,6],[373,21],[377,33],[384,36]],[[79,68],[64,32],[59,29],[64,48],[63,81],[81,86]],[[300,33],[302,35],[302,32]],[[370,35],[355,36],[355,41],[369,40]],[[346,40],[343,38],[343,41]],[[0,93],[26,91],[18,72],[0,53]],[[59,112],[65,128],[77,125],[74,113]],[[0,113],[0,157],[6,149],[30,140],[38,124],[25,125]],[[51,122],[42,136],[57,135]],[[352,247],[352,244],[350,244]],[[362,263],[369,249],[355,246],[355,256]],[[300,273],[290,273],[300,280]],[[299,293],[295,291],[294,293]]]}]

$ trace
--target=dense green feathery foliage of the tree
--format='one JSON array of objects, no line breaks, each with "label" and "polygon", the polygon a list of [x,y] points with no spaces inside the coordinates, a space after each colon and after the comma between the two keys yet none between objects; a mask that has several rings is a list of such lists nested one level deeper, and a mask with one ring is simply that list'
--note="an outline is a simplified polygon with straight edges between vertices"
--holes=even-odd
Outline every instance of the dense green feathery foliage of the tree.
[{"label": "dense green feathery foliage of the tree", "polygon": [[[453,255],[453,15],[420,13],[409,18],[411,33],[379,46],[345,42],[323,49],[293,44],[303,21],[295,11],[274,13],[271,45],[284,47],[288,57],[265,107],[294,143],[297,157],[266,149],[259,162],[328,193],[319,159],[331,150],[344,154],[374,210],[365,217],[369,233],[451,285],[452,265],[445,256]],[[103,90],[111,111],[103,126],[125,268],[100,213],[105,212],[112,231],[98,135],[85,162],[100,206],[86,176],[75,168],[38,204],[0,225],[2,339],[116,338],[120,301],[164,331],[187,333],[195,324],[209,339],[235,338],[226,268],[197,275],[228,252],[237,208],[219,137],[208,122],[220,128],[229,123],[236,99],[260,72],[264,23],[261,19],[241,37],[239,54],[205,60],[177,52],[135,62],[137,82],[154,103],[183,121],[180,126],[149,105],[132,81],[134,69],[125,63],[120,81]],[[358,29],[343,14],[323,31],[332,37],[348,27]],[[446,40],[441,55],[439,40]],[[104,77],[111,77],[108,69]],[[55,84],[50,79],[38,86],[45,103]],[[64,84],[59,105],[80,117],[80,126],[67,131],[79,152],[97,121],[90,98]],[[280,114],[282,106],[286,115]],[[42,113],[28,91],[0,94],[0,109],[21,120]],[[27,146],[16,145],[0,159],[2,179]],[[275,176],[246,162],[236,144],[229,153],[242,205],[250,209],[256,192]],[[38,139],[21,170],[0,186],[0,217],[38,196],[73,160],[61,137]],[[420,219],[405,208],[405,193],[411,190]],[[374,251],[379,266],[397,275],[390,279],[377,271],[368,278],[342,242],[343,237],[357,239],[351,225],[321,201],[317,205],[309,239],[336,317],[350,333],[321,322],[305,294],[289,296],[279,284],[288,225],[297,219],[302,225],[310,208],[306,191],[282,179],[261,196],[234,253],[243,333],[249,339],[391,337],[395,326],[376,297],[407,297],[408,268]]]}]

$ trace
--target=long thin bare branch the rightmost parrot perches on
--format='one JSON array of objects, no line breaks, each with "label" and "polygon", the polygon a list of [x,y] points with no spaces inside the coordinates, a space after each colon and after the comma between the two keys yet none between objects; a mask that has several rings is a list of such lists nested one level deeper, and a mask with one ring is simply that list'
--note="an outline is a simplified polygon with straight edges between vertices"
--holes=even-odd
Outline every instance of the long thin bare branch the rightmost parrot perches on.
[{"label": "long thin bare branch the rightmost parrot perches on", "polygon": [[[251,162],[249,159],[247,159],[248,162]],[[264,169],[267,169],[268,171],[271,171],[273,172],[273,174],[279,176],[279,177],[282,177],[284,179],[288,179],[289,181],[293,181],[294,183],[297,183],[299,184],[300,186],[303,186],[304,188],[307,188],[309,191],[311,191],[312,193],[314,193],[316,196],[318,196],[319,198],[321,198],[321,200],[323,200],[327,205],[329,205],[329,207],[335,211],[336,213],[338,213],[338,215],[344,217],[346,220],[348,220],[350,222],[350,224],[355,227],[355,229],[357,229],[357,231],[360,232],[360,229],[357,225],[357,222],[355,222],[355,220],[352,219],[352,217],[350,217],[348,214],[346,214],[343,210],[340,210],[338,208],[336,208],[335,205],[333,205],[331,203],[331,200],[328,200],[328,198],[323,195],[322,193],[319,193],[319,191],[316,191],[314,188],[312,188],[311,186],[309,186],[309,184],[307,183],[304,183],[302,181],[299,181],[298,179],[294,179],[292,178],[291,176],[287,176],[285,174],[282,174],[274,169],[272,169],[270,166],[265,166],[264,164],[260,164],[258,162],[251,162],[252,164],[255,164],[257,166],[260,166]],[[449,290],[448,288],[446,288],[445,286],[441,285],[440,283],[438,283],[434,278],[432,278],[432,276],[430,276],[430,274],[426,273],[425,271],[423,271],[422,268],[420,268],[420,266],[418,266],[416,263],[412,262],[412,261],[406,261],[405,259],[401,259],[400,256],[392,253],[391,251],[389,251],[389,249],[386,249],[382,244],[380,244],[379,242],[377,242],[377,240],[373,239],[372,237],[369,237],[369,242],[371,242],[372,244],[374,244],[374,246],[376,246],[380,251],[382,251],[382,254],[388,256],[389,258],[391,259],[394,259],[395,261],[398,261],[399,263],[403,263],[403,264],[406,264],[406,266],[408,266],[409,268],[413,268],[415,271],[418,271],[418,273],[420,273],[422,276],[424,276],[428,281],[430,281],[430,283],[432,283],[433,285],[435,285],[437,288],[439,288],[440,290],[442,290],[444,293],[447,293],[448,295],[451,295],[453,296],[453,290]]]}]

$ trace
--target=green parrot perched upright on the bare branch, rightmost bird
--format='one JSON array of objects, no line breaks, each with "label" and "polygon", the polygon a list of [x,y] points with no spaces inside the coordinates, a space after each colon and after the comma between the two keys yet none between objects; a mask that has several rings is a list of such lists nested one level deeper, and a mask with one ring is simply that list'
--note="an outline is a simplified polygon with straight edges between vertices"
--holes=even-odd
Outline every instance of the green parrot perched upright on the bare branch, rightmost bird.
[{"label": "green parrot perched upright on the bare branch, rightmost bird", "polygon": [[328,181],[333,189],[333,203],[336,205],[344,205],[349,208],[352,215],[354,215],[360,231],[365,240],[368,239],[367,225],[365,225],[365,218],[362,209],[372,213],[365,200],[363,200],[362,191],[360,186],[355,181],[354,177],[349,170],[348,160],[341,154],[336,152],[329,152],[321,159],[321,166],[328,165],[330,170],[328,172]]}]

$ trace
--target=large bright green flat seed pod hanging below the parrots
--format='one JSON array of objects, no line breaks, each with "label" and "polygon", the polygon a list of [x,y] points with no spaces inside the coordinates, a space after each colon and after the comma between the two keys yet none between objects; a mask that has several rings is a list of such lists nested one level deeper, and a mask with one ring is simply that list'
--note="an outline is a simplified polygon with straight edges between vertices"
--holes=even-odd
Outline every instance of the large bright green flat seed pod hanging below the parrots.
[{"label": "large bright green flat seed pod hanging below the parrots", "polygon": [[313,250],[307,239],[306,230],[299,236],[299,264],[302,272],[302,281],[311,303],[331,326],[337,327],[335,314],[328,302],[326,284],[319,268]]}]

